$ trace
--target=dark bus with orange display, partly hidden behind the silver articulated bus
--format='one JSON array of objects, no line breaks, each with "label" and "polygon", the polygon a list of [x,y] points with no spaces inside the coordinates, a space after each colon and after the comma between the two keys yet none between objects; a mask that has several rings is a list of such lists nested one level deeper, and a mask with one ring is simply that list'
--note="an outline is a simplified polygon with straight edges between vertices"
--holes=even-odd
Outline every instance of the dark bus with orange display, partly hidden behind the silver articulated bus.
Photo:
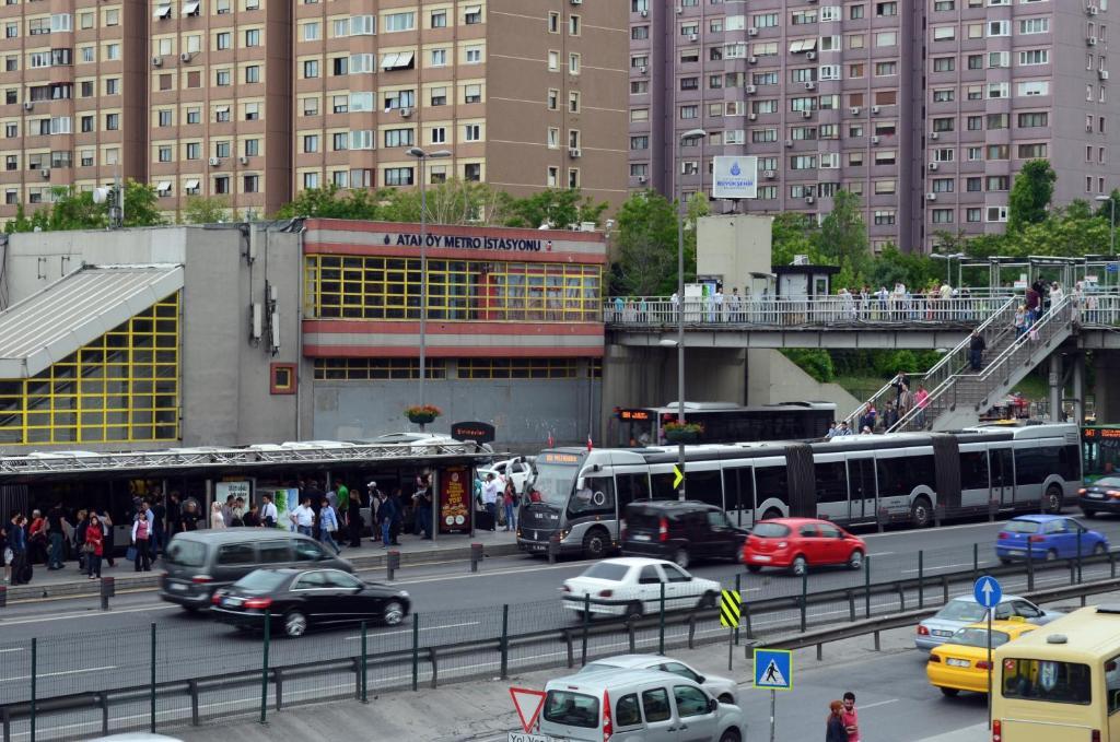
[{"label": "dark bus with orange display, partly hidden behind the silver articulated bus", "polygon": [[[615,411],[615,444],[618,448],[665,445],[665,423],[676,422],[675,403],[664,407],[634,407]],[[684,422],[703,426],[698,442],[748,443],[752,441],[800,441],[824,438],[837,419],[832,402],[786,402],[740,407],[727,402],[685,402]]]}]

